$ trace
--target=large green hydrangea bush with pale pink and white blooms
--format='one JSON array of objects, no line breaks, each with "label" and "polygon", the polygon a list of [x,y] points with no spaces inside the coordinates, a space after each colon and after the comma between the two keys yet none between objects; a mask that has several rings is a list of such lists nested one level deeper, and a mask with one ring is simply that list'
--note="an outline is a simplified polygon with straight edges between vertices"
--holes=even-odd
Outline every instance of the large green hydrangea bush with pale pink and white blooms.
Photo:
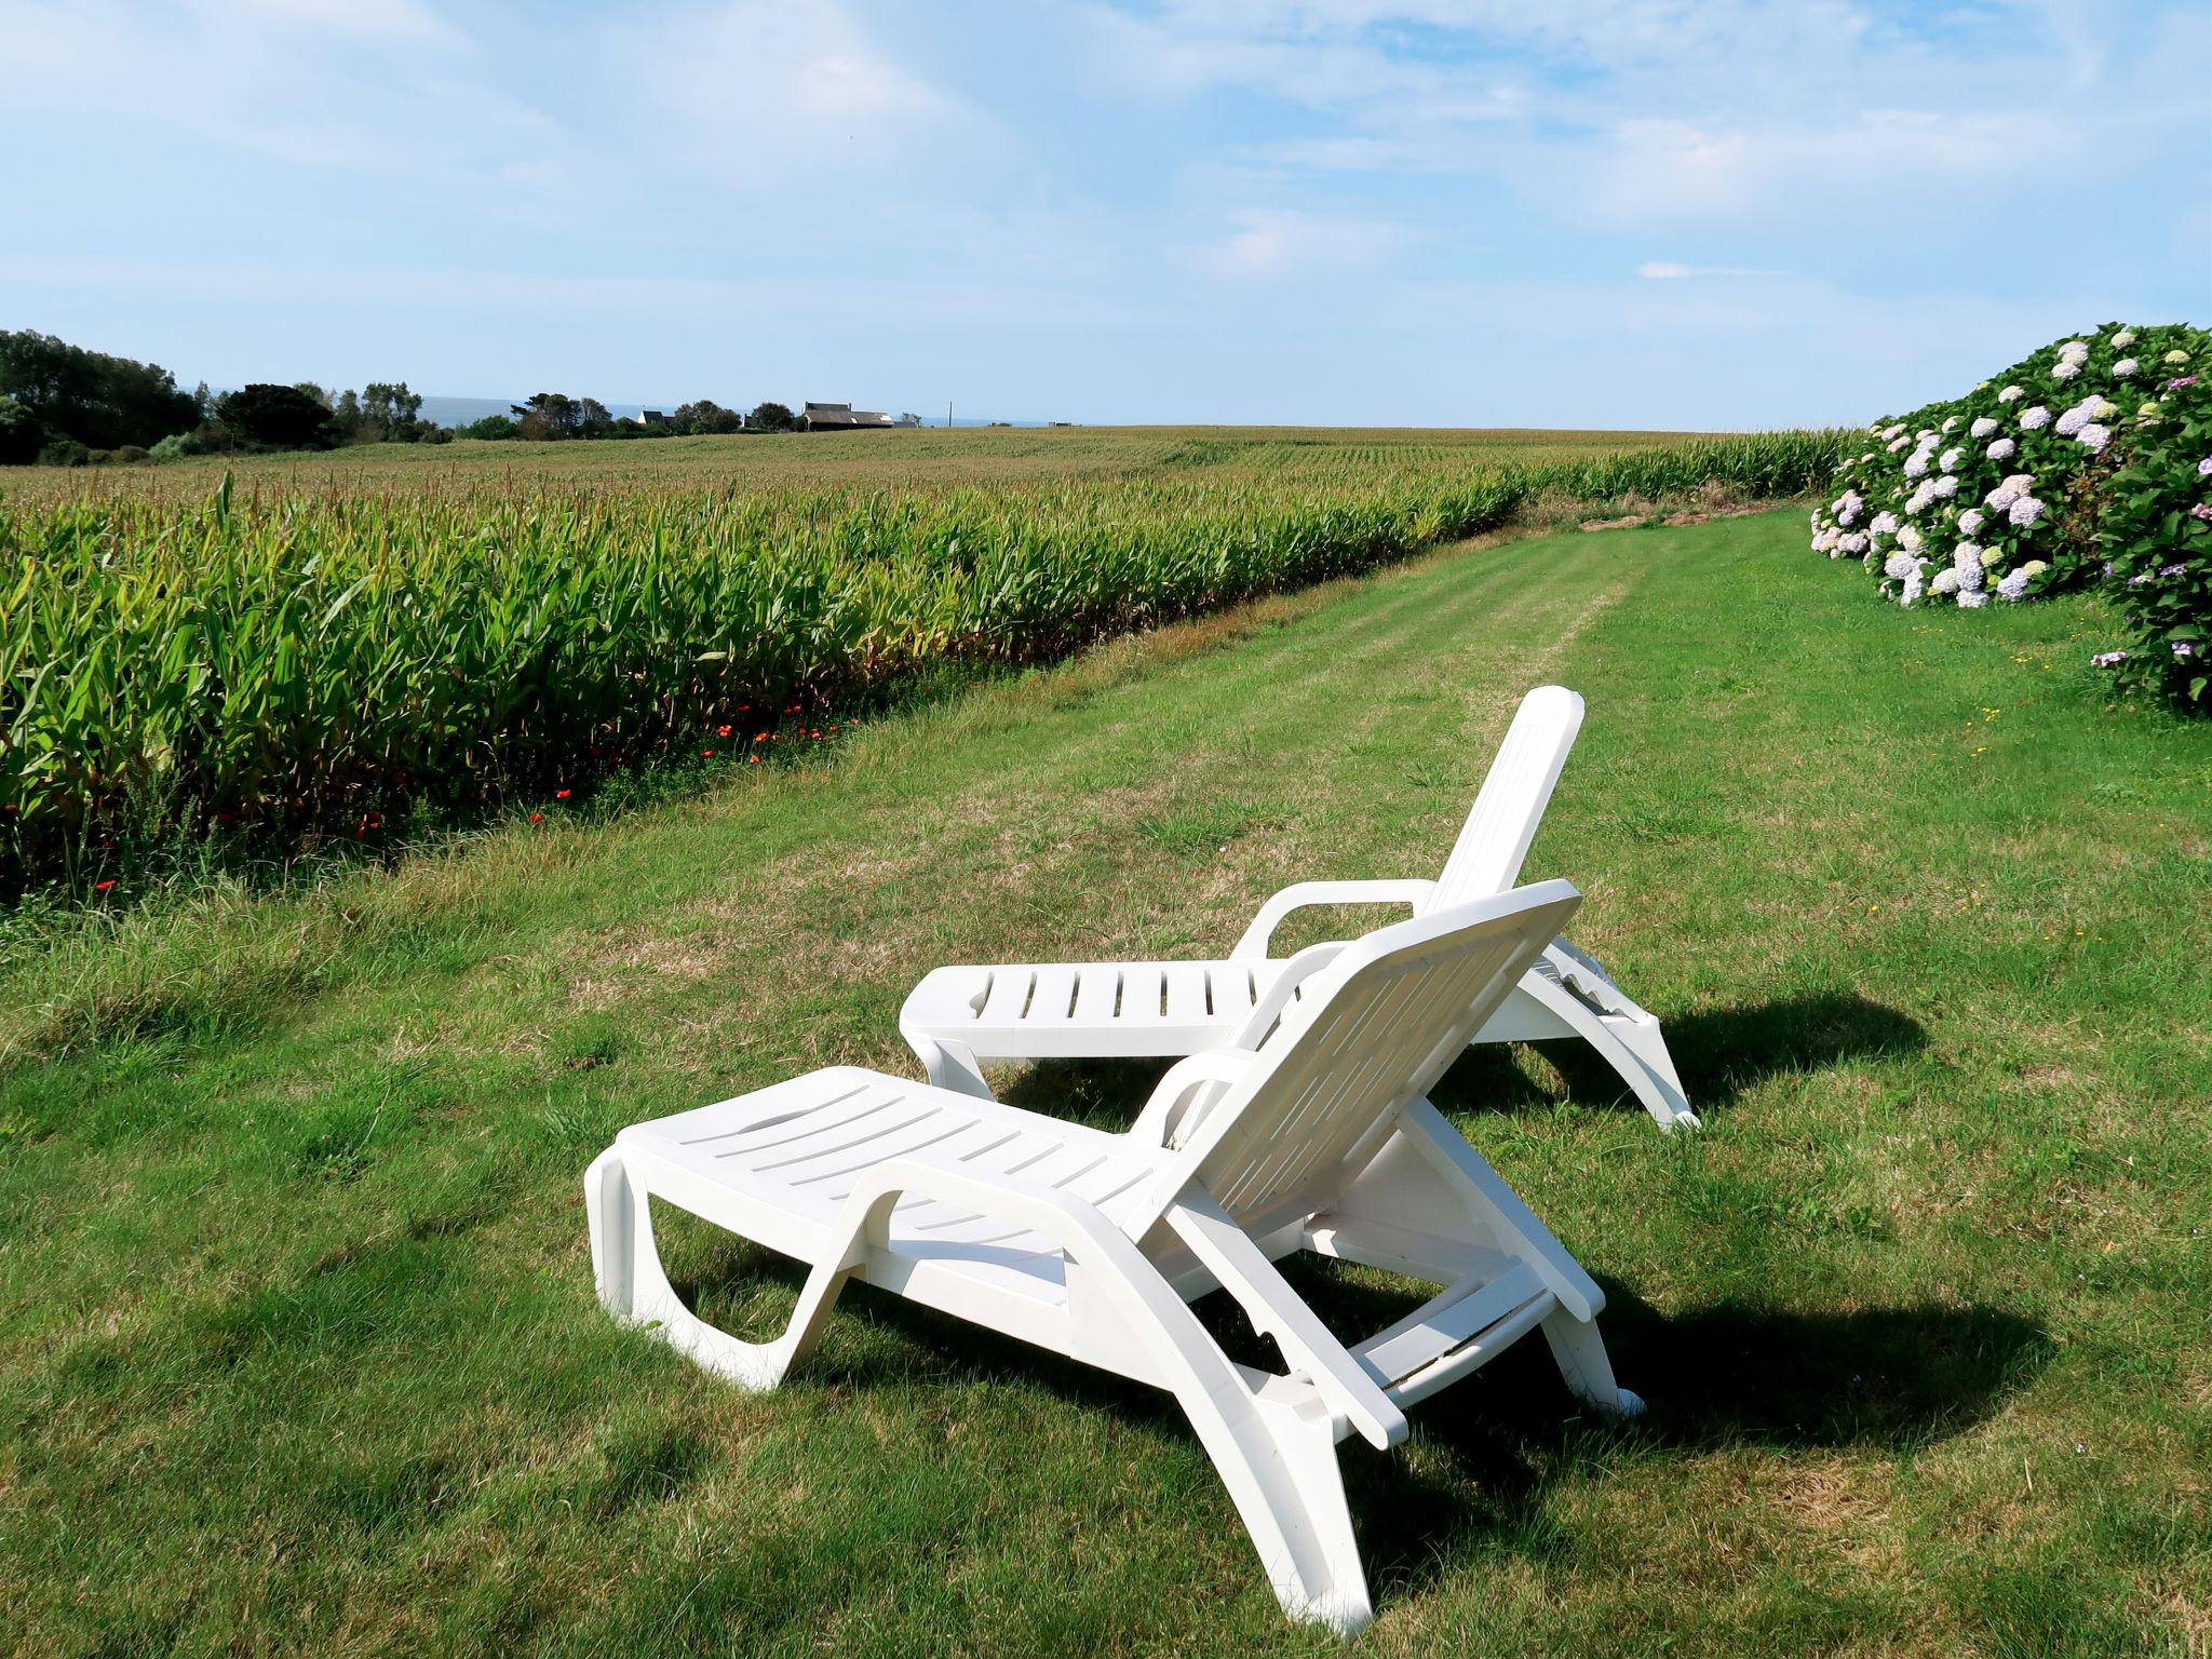
[{"label": "large green hydrangea bush with pale pink and white blooms", "polygon": [[1978,611],[2110,580],[2135,641],[2097,664],[2201,703],[2212,462],[2199,460],[2212,445],[2199,374],[2212,374],[2205,330],[2108,323],[1964,398],[1876,420],[1814,511],[1812,549],[1856,557],[1905,606]]}]

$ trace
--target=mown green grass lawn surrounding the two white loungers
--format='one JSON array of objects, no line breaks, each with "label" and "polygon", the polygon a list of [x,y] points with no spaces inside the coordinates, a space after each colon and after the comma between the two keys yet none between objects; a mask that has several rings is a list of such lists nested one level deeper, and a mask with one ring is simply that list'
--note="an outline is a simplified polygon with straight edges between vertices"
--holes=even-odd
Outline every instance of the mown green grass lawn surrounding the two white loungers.
[{"label": "mown green grass lawn surrounding the two white loungers", "polygon": [[[1168,1396],[869,1290],[743,1396],[599,1312],[580,1177],[630,1119],[914,1075],[938,962],[1217,953],[1285,880],[1433,874],[1557,679],[1590,719],[1528,874],[1708,1128],[1573,1051],[1438,1104],[1650,1416],[1577,1416],[1537,1343],[1347,1444],[1358,1650],[2203,1652],[2212,726],[2108,708],[2093,624],[1898,613],[1798,513],[1522,540],[697,801],[18,922],[0,1648],[1329,1652]],[[1119,1124],[1148,1079],[1006,1093]],[[745,1334],[790,1303],[668,1245]]]}]

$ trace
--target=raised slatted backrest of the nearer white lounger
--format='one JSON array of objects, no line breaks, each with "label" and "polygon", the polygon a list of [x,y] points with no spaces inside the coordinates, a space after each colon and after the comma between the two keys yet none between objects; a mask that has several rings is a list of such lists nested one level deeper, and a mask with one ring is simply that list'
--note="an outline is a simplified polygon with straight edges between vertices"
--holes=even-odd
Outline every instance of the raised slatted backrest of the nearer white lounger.
[{"label": "raised slatted backrest of the nearer white lounger", "polygon": [[1467,1048],[1579,902],[1548,880],[1352,945],[1285,1013],[1263,1062],[1203,1113],[1172,1188],[1197,1179],[1239,1225],[1325,1194]]}]

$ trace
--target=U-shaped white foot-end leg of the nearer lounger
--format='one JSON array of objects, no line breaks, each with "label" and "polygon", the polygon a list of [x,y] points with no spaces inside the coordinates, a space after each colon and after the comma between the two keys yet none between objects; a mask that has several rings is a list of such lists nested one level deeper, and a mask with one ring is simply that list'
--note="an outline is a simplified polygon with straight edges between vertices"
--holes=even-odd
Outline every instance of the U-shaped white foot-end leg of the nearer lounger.
[{"label": "U-shaped white foot-end leg of the nearer lounger", "polygon": [[611,1148],[584,1175],[584,1208],[591,1217],[591,1270],[599,1301],[617,1318],[657,1327],[679,1354],[743,1389],[765,1391],[821,1340],[830,1310],[852,1267],[821,1261],[807,1274],[792,1307],[792,1321],[772,1343],[743,1343],[690,1312],[661,1272],[653,1241],[648,1190]]}]

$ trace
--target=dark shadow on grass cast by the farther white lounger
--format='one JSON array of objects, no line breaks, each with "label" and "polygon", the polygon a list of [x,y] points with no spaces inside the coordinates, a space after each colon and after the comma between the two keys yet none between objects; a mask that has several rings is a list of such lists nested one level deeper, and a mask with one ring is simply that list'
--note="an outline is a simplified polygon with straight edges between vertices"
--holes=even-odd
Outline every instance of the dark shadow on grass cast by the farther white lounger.
[{"label": "dark shadow on grass cast by the farther white lounger", "polygon": [[[1927,1046],[1927,1031],[1918,1020],[1856,991],[1814,991],[1661,1015],[1661,1031],[1683,1093],[1699,1115],[1730,1106],[1767,1077],[1907,1055]],[[1566,1099],[1615,1102],[1641,1110],[1588,1044],[1562,1037],[1528,1046],[1559,1075]],[[1444,1110],[1535,1110],[1555,1106],[1559,1097],[1515,1062],[1511,1046],[1484,1044],[1460,1057],[1438,1082],[1433,1099]]]}]

